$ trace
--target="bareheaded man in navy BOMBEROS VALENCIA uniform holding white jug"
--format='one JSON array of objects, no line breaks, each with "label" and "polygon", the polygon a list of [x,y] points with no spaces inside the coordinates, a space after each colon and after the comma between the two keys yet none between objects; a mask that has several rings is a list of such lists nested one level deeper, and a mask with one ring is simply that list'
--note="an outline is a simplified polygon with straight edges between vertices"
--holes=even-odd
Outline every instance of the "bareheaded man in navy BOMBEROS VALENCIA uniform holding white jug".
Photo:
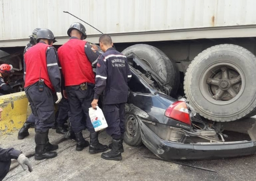
[{"label": "bareheaded man in navy BOMBEROS VALENCIA uniform holding white jug", "polygon": [[109,145],[109,149],[112,150],[103,153],[101,157],[106,160],[122,160],[125,103],[131,71],[127,58],[112,47],[109,35],[100,36],[99,45],[104,53],[98,58],[92,107],[96,109],[98,98],[103,93],[103,113],[109,125],[106,131],[112,136],[112,143]]}]

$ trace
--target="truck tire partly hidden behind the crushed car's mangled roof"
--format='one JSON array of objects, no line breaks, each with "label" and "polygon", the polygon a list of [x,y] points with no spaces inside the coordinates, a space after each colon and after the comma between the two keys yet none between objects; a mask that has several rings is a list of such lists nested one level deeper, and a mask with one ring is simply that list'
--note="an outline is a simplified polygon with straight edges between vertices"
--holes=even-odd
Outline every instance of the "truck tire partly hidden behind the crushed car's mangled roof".
[{"label": "truck tire partly hidden behind the crushed car's mangled roof", "polygon": [[161,50],[147,44],[137,44],[125,48],[123,54],[135,53],[172,87],[170,96],[176,96],[180,85],[180,72],[173,60],[170,60]]}]

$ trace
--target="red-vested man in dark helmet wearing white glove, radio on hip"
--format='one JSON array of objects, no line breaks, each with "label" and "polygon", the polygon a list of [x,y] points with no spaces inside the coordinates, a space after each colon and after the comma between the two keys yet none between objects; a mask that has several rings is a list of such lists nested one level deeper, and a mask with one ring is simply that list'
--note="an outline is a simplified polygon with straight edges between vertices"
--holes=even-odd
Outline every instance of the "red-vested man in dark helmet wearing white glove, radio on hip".
[{"label": "red-vested man in dark helmet wearing white glove, radio on hip", "polygon": [[57,52],[52,47],[54,40],[52,31],[39,30],[37,44],[29,48],[24,57],[25,93],[36,117],[35,160],[57,156],[53,151],[58,149],[58,145],[51,145],[48,138],[49,129],[54,125],[53,92],[58,98],[55,103],[59,103],[62,98]]}]

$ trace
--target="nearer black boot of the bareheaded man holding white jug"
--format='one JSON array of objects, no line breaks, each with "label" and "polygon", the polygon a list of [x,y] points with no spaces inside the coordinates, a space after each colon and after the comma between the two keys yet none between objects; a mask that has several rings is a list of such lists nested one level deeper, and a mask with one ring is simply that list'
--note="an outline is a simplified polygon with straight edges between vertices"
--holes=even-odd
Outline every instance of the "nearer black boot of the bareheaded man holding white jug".
[{"label": "nearer black boot of the bareheaded man holding white jug", "polygon": [[122,155],[120,152],[120,141],[121,140],[112,140],[112,150],[106,153],[101,154],[101,158],[105,160],[122,160]]}]

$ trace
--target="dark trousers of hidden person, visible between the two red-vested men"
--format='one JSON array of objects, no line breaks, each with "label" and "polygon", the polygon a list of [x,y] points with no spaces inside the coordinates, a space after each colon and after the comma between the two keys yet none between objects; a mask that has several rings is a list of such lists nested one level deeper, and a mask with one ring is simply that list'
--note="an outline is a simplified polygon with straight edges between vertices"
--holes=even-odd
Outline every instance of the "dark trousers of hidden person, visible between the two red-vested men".
[{"label": "dark trousers of hidden person, visible between the two red-vested men", "polygon": [[56,119],[58,126],[63,126],[68,118],[70,118],[69,120],[71,120],[69,103],[67,99],[62,98],[59,103],[59,114]]}]

